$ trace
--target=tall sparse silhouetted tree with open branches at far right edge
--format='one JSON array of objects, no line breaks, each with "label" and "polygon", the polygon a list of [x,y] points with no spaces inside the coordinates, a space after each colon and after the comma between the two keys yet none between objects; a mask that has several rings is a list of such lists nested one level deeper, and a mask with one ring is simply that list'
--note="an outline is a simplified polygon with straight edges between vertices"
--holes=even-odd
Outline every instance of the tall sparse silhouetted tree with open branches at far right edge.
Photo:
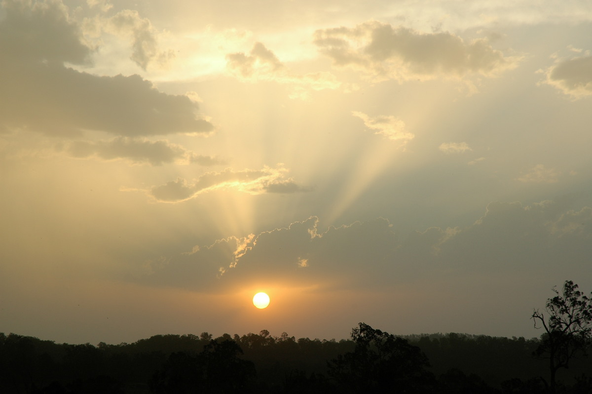
[{"label": "tall sparse silhouetted tree with open branches at far right edge", "polygon": [[590,341],[592,298],[577,289],[577,284],[565,281],[562,293],[554,288],[556,296],[547,300],[547,316],[538,309],[532,313],[535,328],[545,329],[535,355],[549,359],[549,383],[544,379],[543,382],[553,394],[556,392],[557,371],[568,368],[572,358],[585,353]]}]

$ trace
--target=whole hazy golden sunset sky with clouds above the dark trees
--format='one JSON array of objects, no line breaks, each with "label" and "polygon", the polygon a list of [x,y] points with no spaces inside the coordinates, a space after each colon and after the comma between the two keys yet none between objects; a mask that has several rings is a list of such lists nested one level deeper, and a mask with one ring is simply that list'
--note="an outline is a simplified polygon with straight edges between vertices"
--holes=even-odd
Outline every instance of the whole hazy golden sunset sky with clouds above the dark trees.
[{"label": "whole hazy golden sunset sky with clouds above the dark trees", "polygon": [[591,33],[587,0],[2,1],[0,332],[538,337],[592,291]]}]

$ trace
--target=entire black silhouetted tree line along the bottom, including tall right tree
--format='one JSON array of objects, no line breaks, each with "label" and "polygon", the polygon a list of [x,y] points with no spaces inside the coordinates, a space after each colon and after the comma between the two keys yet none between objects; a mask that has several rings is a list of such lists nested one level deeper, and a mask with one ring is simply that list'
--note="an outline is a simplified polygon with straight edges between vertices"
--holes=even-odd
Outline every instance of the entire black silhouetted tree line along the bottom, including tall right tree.
[{"label": "entire black silhouetted tree line along the bottom, including tall right tree", "polygon": [[566,281],[532,319],[540,338],[350,339],[155,335],[118,345],[0,334],[0,393],[592,393],[592,300]]}]

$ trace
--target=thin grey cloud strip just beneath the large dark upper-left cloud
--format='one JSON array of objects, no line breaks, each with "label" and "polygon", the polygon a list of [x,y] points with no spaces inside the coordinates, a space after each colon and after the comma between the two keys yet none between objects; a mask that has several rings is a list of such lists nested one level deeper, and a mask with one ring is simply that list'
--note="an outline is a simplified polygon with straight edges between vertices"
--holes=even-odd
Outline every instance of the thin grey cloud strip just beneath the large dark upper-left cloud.
[{"label": "thin grey cloud strip just beneath the large dark upper-left cloud", "polygon": [[75,141],[68,147],[77,158],[96,156],[104,160],[126,159],[134,164],[163,165],[172,162],[200,165],[223,164],[218,158],[201,156],[166,140],[149,141],[130,137],[115,137],[108,141]]}]

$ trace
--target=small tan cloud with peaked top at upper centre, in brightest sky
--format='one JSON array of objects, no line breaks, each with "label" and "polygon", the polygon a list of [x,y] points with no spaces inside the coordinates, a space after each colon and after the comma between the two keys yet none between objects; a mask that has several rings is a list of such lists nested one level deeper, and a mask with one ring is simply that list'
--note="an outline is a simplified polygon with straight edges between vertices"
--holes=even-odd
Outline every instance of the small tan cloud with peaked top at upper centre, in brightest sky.
[{"label": "small tan cloud with peaked top at upper centre, in brightest sky", "polygon": [[341,82],[329,72],[292,73],[275,54],[262,43],[255,43],[249,54],[243,52],[226,55],[226,68],[242,81],[274,81],[291,87],[291,98],[305,99],[310,91],[337,89]]}]

